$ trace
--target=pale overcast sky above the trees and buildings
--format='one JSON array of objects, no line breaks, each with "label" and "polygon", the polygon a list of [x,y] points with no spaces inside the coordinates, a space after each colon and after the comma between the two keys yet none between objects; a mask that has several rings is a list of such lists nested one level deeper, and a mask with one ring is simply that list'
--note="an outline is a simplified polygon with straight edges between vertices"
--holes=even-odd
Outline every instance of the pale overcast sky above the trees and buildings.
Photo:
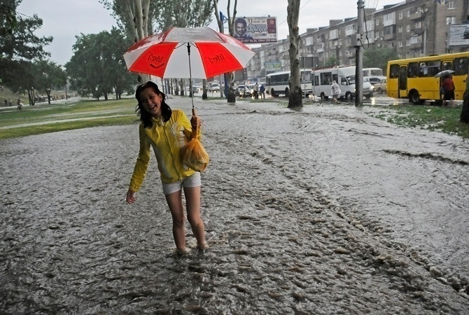
[{"label": "pale overcast sky above the trees and buildings", "polygon": [[[232,3],[234,1],[231,1]],[[365,7],[381,9],[384,5],[400,3],[391,0],[365,0]],[[220,0],[218,10],[227,15],[227,0]],[[238,0],[237,16],[276,16],[279,39],[288,35],[286,22],[287,0]],[[232,10],[231,10],[232,11]],[[45,50],[57,64],[65,64],[73,55],[75,36],[110,31],[115,20],[109,10],[98,0],[23,0],[18,13],[43,20],[43,27],[36,31],[38,36],[53,36],[54,41]],[[300,34],[307,28],[329,25],[329,20],[353,18],[357,15],[356,0],[301,0]],[[218,30],[215,22],[209,25]]]}]

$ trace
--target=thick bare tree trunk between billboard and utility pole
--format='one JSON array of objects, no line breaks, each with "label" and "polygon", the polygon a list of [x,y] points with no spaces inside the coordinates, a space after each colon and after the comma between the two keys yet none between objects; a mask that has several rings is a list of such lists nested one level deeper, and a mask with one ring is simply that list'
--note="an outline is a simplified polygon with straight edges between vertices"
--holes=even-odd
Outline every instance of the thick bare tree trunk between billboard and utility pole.
[{"label": "thick bare tree trunk between billboard and utility pole", "polygon": [[288,0],[286,8],[288,22],[288,33],[290,34],[290,94],[288,95],[288,108],[303,106],[302,90],[300,87],[300,59],[298,50],[300,47],[300,35],[298,28],[298,18],[300,16],[300,0]]}]

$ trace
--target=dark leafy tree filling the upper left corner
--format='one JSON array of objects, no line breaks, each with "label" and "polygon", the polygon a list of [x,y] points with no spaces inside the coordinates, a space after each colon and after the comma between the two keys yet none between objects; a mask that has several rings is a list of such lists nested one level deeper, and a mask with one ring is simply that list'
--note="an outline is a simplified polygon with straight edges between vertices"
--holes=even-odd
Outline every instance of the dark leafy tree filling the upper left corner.
[{"label": "dark leafy tree filling the upper left corner", "polygon": [[52,41],[50,36],[34,35],[34,31],[42,26],[42,20],[37,15],[32,18],[18,15],[16,8],[20,3],[21,0],[2,0],[0,3],[0,78],[13,92],[31,88],[30,82],[22,81],[25,80],[24,71],[29,70],[27,64],[48,57],[49,52],[43,48]]}]

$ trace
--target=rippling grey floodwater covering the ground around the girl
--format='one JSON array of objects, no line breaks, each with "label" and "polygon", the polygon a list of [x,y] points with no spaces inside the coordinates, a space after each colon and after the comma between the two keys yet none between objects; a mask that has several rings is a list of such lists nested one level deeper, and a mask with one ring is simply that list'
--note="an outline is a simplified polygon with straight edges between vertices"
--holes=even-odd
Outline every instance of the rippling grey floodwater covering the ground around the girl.
[{"label": "rippling grey floodwater covering the ground around the girl", "polygon": [[125,204],[137,123],[0,141],[0,313],[468,314],[468,141],[353,104],[195,106],[203,253],[188,226],[173,253],[154,158]]}]

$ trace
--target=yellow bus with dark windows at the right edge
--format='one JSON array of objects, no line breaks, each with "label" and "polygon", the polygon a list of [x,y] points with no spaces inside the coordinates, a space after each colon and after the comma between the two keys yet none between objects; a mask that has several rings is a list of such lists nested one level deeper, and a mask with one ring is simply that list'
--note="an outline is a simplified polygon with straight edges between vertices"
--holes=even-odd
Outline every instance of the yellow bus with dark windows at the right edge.
[{"label": "yellow bus with dark windows at the right edge", "polygon": [[452,70],[455,99],[463,99],[465,80],[468,77],[469,52],[430,55],[388,62],[387,94],[398,99],[406,98],[413,104],[426,100],[442,102],[442,78],[435,77],[444,70]]}]

